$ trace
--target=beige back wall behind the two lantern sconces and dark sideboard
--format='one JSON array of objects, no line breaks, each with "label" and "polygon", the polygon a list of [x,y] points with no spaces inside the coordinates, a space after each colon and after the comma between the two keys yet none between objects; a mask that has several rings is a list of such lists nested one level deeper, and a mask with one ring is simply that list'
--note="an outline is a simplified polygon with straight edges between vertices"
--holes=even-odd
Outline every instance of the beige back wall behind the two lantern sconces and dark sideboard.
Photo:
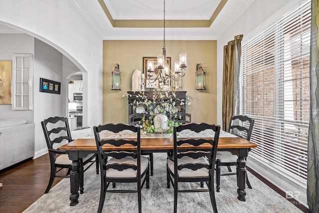
[{"label": "beige back wall behind the two lantern sconces and dark sideboard", "polygon": [[[128,100],[121,98],[132,90],[135,69],[143,71],[143,57],[157,57],[162,53],[159,40],[104,40],[103,41],[103,123],[128,123]],[[181,86],[192,100],[192,122],[216,123],[216,40],[165,41],[171,68],[179,60],[179,53],[187,53],[187,72]],[[122,90],[112,90],[112,71],[118,63],[122,72]],[[196,64],[206,72],[206,90],[195,90]]]}]

